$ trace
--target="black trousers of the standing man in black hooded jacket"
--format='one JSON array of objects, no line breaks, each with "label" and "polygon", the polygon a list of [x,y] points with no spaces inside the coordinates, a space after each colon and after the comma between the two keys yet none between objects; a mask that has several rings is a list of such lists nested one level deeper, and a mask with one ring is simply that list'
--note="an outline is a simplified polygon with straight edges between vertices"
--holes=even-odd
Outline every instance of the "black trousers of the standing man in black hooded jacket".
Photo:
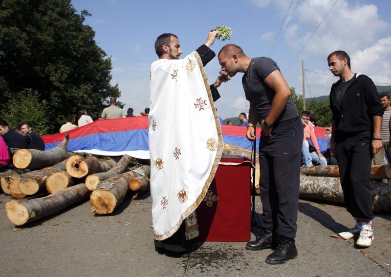
[{"label": "black trousers of the standing man in black hooded jacket", "polygon": [[335,153],[346,209],[363,222],[373,219],[372,188],[369,184],[370,140],[369,131],[351,135],[336,134],[335,138]]}]

